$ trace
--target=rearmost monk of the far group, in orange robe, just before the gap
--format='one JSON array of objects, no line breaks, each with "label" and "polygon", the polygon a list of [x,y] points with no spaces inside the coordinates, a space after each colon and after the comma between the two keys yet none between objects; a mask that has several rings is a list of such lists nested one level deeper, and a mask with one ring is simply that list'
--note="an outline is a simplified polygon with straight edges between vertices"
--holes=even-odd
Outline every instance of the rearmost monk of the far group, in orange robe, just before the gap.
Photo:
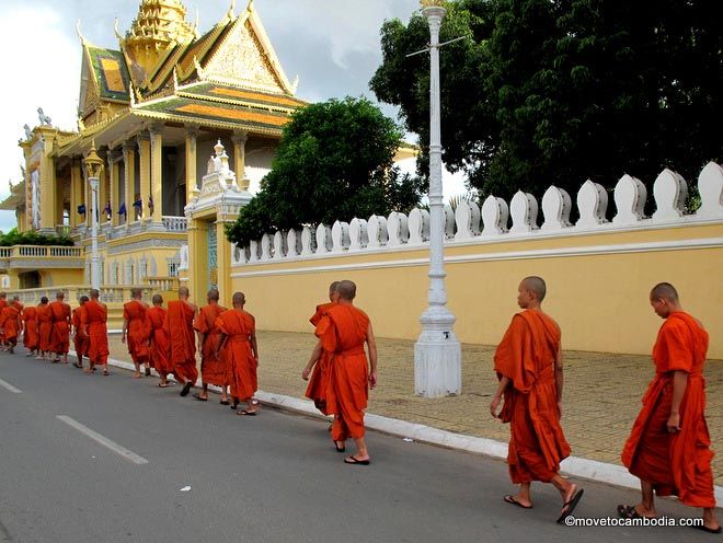
[{"label": "rearmost monk of the far group, in orange robe, just before the gap", "polygon": [[237,415],[255,416],[256,406],[253,395],[259,388],[256,368],[259,367],[259,346],[256,345],[256,320],[244,311],[246,297],[243,292],[233,293],[233,310],[225,311],[216,319],[219,332],[216,357],[223,360],[228,369],[228,382],[233,398],[232,409],[239,403],[245,403]]}]

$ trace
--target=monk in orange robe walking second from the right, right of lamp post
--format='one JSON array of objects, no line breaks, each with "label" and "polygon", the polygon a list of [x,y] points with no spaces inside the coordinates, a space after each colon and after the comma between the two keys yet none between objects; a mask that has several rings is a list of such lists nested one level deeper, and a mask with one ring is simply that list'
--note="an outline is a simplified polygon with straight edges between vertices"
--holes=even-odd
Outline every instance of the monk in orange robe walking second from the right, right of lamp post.
[{"label": "monk in orange robe walking second from the right, right of lamp post", "polygon": [[[562,496],[558,522],[570,517],[583,489],[560,476],[560,462],[570,455],[570,444],[560,425],[562,413],[562,348],[560,326],[542,312],[547,286],[541,277],[526,277],[517,289],[524,311],[513,316],[494,355],[500,383],[490,413],[509,423],[507,463],[512,482],[519,485],[507,504],[532,507],[532,481],[552,483]],[[498,413],[500,403],[503,402]]]}]

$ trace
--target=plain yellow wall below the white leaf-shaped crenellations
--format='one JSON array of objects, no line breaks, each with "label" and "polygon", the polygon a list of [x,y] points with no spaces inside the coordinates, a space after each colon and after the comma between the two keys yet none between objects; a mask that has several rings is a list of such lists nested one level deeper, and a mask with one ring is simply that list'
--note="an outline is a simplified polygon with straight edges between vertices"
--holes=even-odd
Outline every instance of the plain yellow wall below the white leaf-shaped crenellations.
[{"label": "plain yellow wall below the white leaf-shaped crenellations", "polygon": [[[649,354],[661,320],[647,294],[656,282],[669,281],[678,288],[684,307],[709,330],[709,356],[723,358],[722,238],[723,224],[714,224],[486,242],[478,238],[448,246],[447,258],[471,261],[446,264],[455,332],[464,343],[498,343],[518,311],[519,280],[540,275],[548,284],[544,310],[560,323],[565,348]],[[655,245],[689,245],[686,240],[709,240],[713,246]],[[426,250],[382,250],[244,264],[233,268],[233,289],[245,292],[260,328],[309,332],[308,319],[314,305],[325,301],[329,284],[352,279],[358,286],[357,304],[369,313],[379,336],[414,339],[426,308]]]}]

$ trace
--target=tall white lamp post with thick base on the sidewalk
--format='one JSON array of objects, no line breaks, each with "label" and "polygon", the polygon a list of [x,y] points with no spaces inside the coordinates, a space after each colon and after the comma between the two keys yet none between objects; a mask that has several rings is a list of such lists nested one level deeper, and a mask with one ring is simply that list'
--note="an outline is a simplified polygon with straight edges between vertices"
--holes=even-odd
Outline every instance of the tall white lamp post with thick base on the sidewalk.
[{"label": "tall white lamp post with thick base on the sidewalk", "polygon": [[445,289],[445,212],[441,196],[441,138],[439,135],[439,27],[447,10],[443,0],[422,0],[429,25],[429,291],[422,313],[422,333],[414,344],[414,390],[417,395],[440,397],[462,389],[461,347],[447,309]]}]

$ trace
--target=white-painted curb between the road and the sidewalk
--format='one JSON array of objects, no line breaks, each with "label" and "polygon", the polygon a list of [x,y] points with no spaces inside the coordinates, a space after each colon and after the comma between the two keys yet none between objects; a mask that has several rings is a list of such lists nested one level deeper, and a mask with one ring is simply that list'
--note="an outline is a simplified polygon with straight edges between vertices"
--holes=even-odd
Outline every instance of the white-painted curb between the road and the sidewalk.
[{"label": "white-painted curb between the road and the sidewalk", "polygon": [[[130,362],[124,362],[123,360],[115,360],[112,358],[108,358],[108,365],[131,371],[135,369],[134,365]],[[209,390],[217,391],[218,388],[210,385]],[[264,391],[256,391],[254,397],[262,404],[272,407],[329,420],[329,417],[325,417],[317,411],[313,406],[313,402],[310,400],[301,400]],[[431,426],[399,420],[397,418],[382,417],[371,413],[365,415],[364,424],[371,430],[381,431],[391,436],[411,438],[423,443],[445,447],[457,451],[471,452],[474,454],[483,454],[495,459],[507,459],[507,443],[495,441],[493,439],[455,434],[452,431],[440,430]],[[579,457],[570,457],[562,461],[560,470],[574,477],[587,478],[598,483],[621,486],[623,488],[640,488],[640,481],[638,477],[631,475],[628,470],[621,465],[608,464]],[[715,493],[715,501],[719,505],[723,504],[723,486],[714,486],[713,489]]]}]

